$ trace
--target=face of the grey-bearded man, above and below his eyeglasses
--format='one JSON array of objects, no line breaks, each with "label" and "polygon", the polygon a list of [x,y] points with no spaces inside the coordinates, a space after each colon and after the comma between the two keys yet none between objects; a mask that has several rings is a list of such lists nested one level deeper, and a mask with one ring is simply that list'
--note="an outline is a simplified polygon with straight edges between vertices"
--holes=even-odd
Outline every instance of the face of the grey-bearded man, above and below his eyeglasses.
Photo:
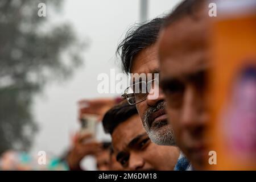
[{"label": "face of the grey-bearded man, above and below his eyeglasses", "polygon": [[[131,73],[159,73],[159,60],[157,46],[153,44],[135,56]],[[154,74],[153,74],[154,75]],[[152,90],[151,90],[152,91]],[[154,99],[147,96],[146,100],[136,105],[146,132],[152,142],[160,145],[174,145],[172,127],[168,125],[167,115],[164,111],[164,97],[162,90]]]}]

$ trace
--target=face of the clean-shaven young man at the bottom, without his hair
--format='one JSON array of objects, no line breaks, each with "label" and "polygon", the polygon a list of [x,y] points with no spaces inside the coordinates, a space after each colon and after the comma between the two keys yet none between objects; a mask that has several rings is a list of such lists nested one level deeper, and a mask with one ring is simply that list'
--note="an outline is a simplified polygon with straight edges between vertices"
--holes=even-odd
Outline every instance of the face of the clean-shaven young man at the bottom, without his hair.
[{"label": "face of the clean-shaven young man at the bottom, without his hair", "polygon": [[126,170],[173,170],[179,149],[152,143],[139,115],[120,123],[112,133],[117,161]]}]

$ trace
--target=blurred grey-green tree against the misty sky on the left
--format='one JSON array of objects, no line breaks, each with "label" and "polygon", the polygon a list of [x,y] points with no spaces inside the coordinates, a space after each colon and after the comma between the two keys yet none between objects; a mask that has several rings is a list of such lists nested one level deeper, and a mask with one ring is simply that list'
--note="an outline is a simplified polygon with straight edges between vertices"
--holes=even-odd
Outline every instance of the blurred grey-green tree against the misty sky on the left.
[{"label": "blurred grey-green tree against the misty sky on the left", "polygon": [[[45,3],[47,16],[38,16]],[[67,23],[56,23],[49,10],[63,1],[0,1],[0,154],[28,150],[37,130],[32,99],[48,81],[65,80],[82,64],[81,43]],[[55,25],[53,25],[55,24]]]}]

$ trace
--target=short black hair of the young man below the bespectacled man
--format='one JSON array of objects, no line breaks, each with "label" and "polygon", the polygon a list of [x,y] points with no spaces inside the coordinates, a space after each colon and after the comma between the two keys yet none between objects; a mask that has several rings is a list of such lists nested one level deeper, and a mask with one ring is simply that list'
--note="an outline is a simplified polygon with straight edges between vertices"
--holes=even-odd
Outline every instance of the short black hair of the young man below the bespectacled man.
[{"label": "short black hair of the young man below the bespectacled man", "polygon": [[121,102],[121,104],[114,106],[104,115],[102,119],[104,131],[112,134],[115,127],[135,114],[138,114],[135,105],[129,105],[126,101]]}]

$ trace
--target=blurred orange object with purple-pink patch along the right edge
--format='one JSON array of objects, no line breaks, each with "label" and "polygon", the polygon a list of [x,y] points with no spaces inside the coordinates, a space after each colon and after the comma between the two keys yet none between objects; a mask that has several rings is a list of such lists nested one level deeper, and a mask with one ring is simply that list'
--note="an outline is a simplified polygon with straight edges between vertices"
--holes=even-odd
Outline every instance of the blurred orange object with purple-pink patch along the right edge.
[{"label": "blurred orange object with purple-pink patch along the right edge", "polygon": [[256,1],[226,1],[217,7],[210,72],[210,135],[217,165],[210,169],[255,170]]}]

